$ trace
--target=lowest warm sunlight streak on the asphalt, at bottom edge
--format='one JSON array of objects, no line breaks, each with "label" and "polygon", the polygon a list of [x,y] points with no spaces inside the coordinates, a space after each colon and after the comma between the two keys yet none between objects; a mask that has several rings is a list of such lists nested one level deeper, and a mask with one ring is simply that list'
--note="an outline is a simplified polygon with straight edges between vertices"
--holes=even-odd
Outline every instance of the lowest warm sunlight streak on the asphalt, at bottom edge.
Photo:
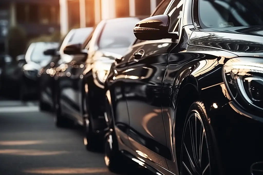
[{"label": "lowest warm sunlight streak on the asphalt, at bottom edge", "polygon": [[35,174],[96,174],[107,173],[107,168],[34,168],[24,171]]}]

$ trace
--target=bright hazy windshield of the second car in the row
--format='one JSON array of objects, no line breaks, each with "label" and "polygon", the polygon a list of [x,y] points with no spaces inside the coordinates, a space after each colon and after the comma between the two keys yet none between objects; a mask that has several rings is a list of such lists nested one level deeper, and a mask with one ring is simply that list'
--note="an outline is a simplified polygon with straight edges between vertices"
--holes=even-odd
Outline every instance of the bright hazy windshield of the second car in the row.
[{"label": "bright hazy windshield of the second car in the row", "polygon": [[127,18],[122,25],[119,19],[108,20],[98,42],[99,49],[129,47],[135,41],[133,28],[139,21],[138,18]]}]

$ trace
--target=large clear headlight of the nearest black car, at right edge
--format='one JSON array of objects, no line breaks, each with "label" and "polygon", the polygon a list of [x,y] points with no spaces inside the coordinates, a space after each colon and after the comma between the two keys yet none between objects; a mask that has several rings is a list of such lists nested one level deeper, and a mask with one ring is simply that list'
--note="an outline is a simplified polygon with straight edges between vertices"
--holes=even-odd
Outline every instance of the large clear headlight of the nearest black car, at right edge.
[{"label": "large clear headlight of the nearest black car, at right edge", "polygon": [[230,59],[222,71],[232,100],[244,108],[263,110],[263,59]]}]

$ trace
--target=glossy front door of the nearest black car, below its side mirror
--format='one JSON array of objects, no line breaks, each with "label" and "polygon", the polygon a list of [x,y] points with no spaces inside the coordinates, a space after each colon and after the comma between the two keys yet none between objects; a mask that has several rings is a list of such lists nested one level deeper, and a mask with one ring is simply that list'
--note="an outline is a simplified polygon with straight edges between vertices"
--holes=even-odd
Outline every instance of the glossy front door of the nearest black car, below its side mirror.
[{"label": "glossy front door of the nearest black car, below its side mirror", "polygon": [[[171,1],[163,1],[156,9],[166,13]],[[129,140],[142,157],[168,168],[170,158],[166,147],[165,128],[161,109],[161,86],[167,65],[167,55],[177,44],[171,39],[137,41],[133,45],[126,72],[126,99],[130,119]]]}]

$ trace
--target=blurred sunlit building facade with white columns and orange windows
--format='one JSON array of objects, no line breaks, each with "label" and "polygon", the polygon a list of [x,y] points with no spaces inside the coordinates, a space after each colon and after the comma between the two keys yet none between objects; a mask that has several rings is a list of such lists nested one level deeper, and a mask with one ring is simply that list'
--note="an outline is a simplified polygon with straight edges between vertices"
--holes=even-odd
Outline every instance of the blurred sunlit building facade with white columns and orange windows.
[{"label": "blurred sunlit building facade with white columns and orange windows", "polygon": [[59,0],[60,32],[90,27],[103,19],[149,16],[162,0]]}]

